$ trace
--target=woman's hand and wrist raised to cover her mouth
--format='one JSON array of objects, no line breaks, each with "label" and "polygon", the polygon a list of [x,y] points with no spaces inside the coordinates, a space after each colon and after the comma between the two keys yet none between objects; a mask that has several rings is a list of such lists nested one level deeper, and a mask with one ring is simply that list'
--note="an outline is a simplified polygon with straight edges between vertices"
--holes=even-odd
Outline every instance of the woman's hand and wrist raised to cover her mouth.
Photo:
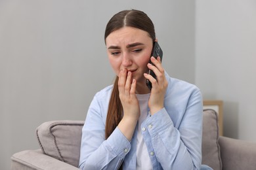
[{"label": "woman's hand and wrist raised to cover her mouth", "polygon": [[118,127],[129,141],[133,137],[137,121],[140,117],[139,101],[136,97],[136,80],[132,80],[131,72],[123,69],[119,73],[118,90],[123,106],[123,118]]}]

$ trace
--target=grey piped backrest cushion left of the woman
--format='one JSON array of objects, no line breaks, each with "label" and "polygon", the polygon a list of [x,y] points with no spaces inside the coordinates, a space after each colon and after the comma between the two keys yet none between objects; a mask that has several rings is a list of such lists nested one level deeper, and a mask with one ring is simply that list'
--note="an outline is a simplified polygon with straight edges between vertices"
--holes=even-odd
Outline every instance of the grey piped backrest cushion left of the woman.
[{"label": "grey piped backrest cushion left of the woman", "polygon": [[44,154],[78,167],[84,121],[51,121],[37,127],[37,139]]}]

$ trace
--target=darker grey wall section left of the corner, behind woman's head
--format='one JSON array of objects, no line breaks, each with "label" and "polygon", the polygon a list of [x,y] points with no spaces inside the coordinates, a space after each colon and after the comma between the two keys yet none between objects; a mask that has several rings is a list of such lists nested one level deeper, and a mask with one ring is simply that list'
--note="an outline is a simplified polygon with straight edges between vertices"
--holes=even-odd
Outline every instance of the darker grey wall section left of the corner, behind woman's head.
[{"label": "darker grey wall section left of the corner, behind woman's head", "polygon": [[0,1],[0,169],[14,152],[39,148],[41,123],[85,120],[93,95],[114,80],[104,28],[123,9],[152,18],[165,69],[194,83],[195,1]]}]

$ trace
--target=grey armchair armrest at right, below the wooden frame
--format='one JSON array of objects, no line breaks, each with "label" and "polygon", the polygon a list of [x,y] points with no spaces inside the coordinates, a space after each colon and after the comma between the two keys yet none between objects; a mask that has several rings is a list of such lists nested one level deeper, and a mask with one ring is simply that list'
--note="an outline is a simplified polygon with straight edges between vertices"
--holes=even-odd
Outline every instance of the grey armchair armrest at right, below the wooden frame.
[{"label": "grey armchair armrest at right, below the wooden frame", "polygon": [[255,169],[256,143],[219,137],[223,169]]}]

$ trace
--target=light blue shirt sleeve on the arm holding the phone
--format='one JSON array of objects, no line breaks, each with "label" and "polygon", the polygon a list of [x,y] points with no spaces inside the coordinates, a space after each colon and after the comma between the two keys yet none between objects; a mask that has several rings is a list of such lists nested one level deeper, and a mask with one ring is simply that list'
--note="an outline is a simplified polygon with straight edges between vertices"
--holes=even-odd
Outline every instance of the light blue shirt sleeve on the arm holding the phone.
[{"label": "light blue shirt sleeve on the arm holding the phone", "polygon": [[175,127],[165,108],[146,121],[152,147],[163,169],[200,169],[202,160],[202,95],[192,93],[181,123]]}]

